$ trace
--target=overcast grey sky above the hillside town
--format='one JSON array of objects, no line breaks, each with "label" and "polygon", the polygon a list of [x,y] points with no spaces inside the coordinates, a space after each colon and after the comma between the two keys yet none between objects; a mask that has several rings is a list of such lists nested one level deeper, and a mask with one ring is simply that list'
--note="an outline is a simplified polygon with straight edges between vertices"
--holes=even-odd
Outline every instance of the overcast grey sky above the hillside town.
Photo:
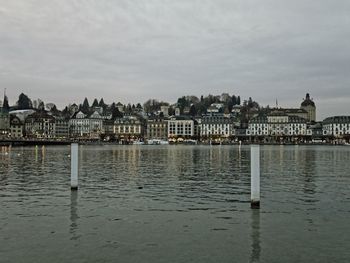
[{"label": "overcast grey sky above the hillside town", "polygon": [[0,90],[59,108],[310,93],[318,120],[350,115],[349,14],[348,0],[0,0]]}]

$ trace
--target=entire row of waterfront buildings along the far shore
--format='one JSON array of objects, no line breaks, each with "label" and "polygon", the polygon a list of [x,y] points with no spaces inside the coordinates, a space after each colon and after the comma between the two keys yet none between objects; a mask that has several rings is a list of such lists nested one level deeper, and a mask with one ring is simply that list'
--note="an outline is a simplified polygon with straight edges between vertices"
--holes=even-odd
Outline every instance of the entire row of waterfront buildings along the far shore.
[{"label": "entire row of waterfront buildings along the far shore", "polygon": [[311,141],[342,139],[349,141],[350,116],[334,116],[316,122],[316,106],[306,95],[300,108],[273,108],[253,112],[242,124],[240,113],[208,111],[190,117],[131,114],[113,117],[112,113],[94,110],[89,114],[76,111],[72,115],[45,110],[0,112],[2,138],[80,139],[119,142],[145,140],[232,142],[249,140]]}]

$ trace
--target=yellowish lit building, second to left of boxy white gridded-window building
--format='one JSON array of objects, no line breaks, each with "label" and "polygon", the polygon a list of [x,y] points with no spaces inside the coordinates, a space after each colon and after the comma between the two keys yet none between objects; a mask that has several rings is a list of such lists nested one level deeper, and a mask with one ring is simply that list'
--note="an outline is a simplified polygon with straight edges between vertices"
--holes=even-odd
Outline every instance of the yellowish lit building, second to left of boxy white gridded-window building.
[{"label": "yellowish lit building, second to left of boxy white gridded-window building", "polygon": [[136,141],[144,137],[143,121],[137,116],[124,116],[114,121],[114,134],[119,141]]}]

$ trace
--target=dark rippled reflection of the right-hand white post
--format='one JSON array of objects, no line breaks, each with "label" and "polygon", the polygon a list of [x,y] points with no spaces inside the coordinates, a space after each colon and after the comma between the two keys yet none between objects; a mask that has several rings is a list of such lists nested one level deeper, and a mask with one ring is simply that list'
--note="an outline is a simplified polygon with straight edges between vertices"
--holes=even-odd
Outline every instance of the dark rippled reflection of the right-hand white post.
[{"label": "dark rippled reflection of the right-hand white post", "polygon": [[249,262],[260,262],[260,210],[251,209],[251,254]]}]

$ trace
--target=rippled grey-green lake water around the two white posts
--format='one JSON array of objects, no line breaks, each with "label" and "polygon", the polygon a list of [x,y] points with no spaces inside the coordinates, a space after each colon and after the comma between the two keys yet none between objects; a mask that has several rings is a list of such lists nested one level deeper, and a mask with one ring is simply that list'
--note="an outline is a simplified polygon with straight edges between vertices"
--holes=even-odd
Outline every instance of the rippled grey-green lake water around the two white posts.
[{"label": "rippled grey-green lake water around the two white posts", "polygon": [[350,147],[1,148],[0,262],[350,262]]}]

